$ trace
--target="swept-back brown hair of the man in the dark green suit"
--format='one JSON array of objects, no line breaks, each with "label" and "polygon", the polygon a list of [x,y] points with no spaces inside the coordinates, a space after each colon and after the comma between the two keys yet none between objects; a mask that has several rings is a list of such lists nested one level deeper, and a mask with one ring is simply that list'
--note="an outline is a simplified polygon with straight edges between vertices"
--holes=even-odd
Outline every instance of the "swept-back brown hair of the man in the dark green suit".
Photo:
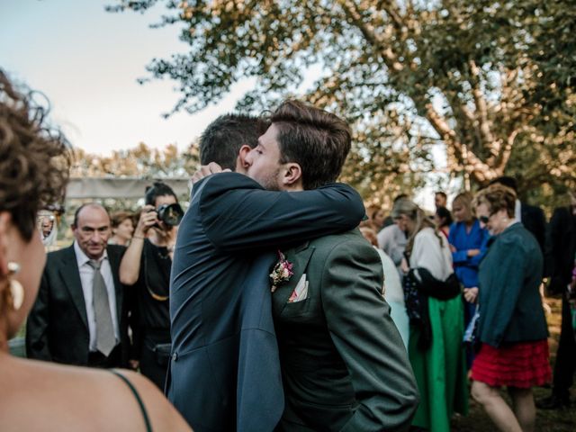
[{"label": "swept-back brown hair of the man in the dark green suit", "polygon": [[302,186],[314,189],[338,178],[352,142],[346,121],[300,101],[285,101],[270,121],[278,128],[280,163],[302,168]]}]

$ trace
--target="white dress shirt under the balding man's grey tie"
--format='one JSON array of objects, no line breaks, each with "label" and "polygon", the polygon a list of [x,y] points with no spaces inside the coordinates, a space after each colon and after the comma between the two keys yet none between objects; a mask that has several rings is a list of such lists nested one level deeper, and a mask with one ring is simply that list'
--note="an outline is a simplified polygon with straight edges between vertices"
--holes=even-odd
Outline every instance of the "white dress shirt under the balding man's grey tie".
[{"label": "white dress shirt under the balding man's grey tie", "polygon": [[[94,317],[94,268],[88,263],[89,257],[86,257],[84,251],[74,242],[74,252],[76,253],[76,262],[78,272],[80,273],[80,282],[82,283],[82,292],[84,293],[84,302],[86,306],[86,316],[88,318],[88,331],[90,332],[90,352],[96,351],[96,319]],[[104,249],[103,257],[99,260],[100,273],[103,276],[106,291],[108,292],[108,303],[110,304],[110,313],[112,314],[112,326],[114,326],[114,336],[116,343],[120,341],[120,329],[118,327],[118,313],[116,312],[116,292],[114,289],[114,278],[112,277],[112,267],[108,260],[108,253]]]}]

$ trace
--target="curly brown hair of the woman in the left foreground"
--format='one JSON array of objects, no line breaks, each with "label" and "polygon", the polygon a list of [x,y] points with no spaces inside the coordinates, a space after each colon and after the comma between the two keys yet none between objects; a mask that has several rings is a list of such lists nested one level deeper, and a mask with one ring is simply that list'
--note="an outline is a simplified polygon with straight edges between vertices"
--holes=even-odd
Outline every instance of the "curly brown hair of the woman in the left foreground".
[{"label": "curly brown hair of the woman in the left foreground", "polygon": [[46,113],[0,69],[0,211],[10,212],[26,241],[37,212],[63,202],[69,176],[67,140],[45,125]]}]

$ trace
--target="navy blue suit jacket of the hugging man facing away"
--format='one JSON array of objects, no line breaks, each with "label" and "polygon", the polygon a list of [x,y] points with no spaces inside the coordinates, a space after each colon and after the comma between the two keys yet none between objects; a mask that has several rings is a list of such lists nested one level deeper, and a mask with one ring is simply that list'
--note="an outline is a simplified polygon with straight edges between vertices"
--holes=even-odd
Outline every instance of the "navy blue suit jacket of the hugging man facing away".
[{"label": "navy blue suit jacket of the hugging man facing away", "polygon": [[276,249],[357,226],[345,184],[271,192],[223,173],[193,187],[170,281],[166,395],[197,432],[271,431],[284,410],[268,274]]}]

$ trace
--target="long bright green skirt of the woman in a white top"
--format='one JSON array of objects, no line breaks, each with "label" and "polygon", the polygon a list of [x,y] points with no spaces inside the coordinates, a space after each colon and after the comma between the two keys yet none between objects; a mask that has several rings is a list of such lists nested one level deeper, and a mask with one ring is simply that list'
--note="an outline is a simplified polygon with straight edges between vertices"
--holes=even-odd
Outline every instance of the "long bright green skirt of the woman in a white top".
[{"label": "long bright green skirt of the woman in a white top", "polygon": [[420,392],[420,404],[412,425],[430,432],[447,432],[455,412],[468,413],[468,383],[461,296],[448,301],[428,299],[432,345],[418,347],[419,329],[410,326],[410,363]]}]

